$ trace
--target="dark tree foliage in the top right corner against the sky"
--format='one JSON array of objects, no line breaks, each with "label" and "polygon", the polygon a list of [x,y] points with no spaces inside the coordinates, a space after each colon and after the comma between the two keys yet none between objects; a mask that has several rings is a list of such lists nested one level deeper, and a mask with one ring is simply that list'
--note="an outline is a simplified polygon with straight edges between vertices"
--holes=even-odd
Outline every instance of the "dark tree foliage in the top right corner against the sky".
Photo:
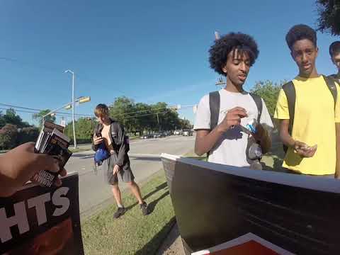
[{"label": "dark tree foliage in the top right corner against the sky", "polygon": [[329,32],[331,35],[340,35],[340,1],[317,0],[317,29]]}]

